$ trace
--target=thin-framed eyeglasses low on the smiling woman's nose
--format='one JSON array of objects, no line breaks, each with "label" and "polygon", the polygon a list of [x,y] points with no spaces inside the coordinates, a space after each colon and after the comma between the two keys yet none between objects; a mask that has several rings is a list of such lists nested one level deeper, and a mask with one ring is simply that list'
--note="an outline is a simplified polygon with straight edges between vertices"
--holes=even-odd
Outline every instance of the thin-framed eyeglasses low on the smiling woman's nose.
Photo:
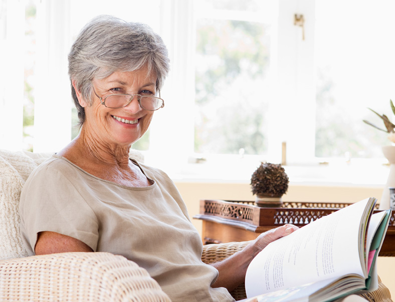
[{"label": "thin-framed eyeglasses low on the smiling woman's nose", "polygon": [[[142,109],[155,111],[160,108],[164,107],[164,101],[161,98],[152,97],[152,96],[143,96],[140,94],[110,94],[106,96],[104,99],[99,97],[93,87],[93,92],[95,95],[100,99],[102,105],[106,106],[107,108],[117,109],[126,107],[130,104],[133,98],[136,96],[138,104]],[[159,91],[160,97],[160,91]]]}]

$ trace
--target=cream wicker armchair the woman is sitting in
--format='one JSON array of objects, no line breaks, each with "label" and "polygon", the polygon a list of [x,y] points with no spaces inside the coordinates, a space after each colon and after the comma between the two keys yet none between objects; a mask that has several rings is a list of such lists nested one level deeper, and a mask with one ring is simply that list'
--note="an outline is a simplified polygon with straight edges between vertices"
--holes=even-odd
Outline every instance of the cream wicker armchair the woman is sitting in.
[{"label": "cream wicker armchair the woman is sitting in", "polygon": [[[27,256],[19,233],[19,197],[32,170],[49,154],[0,150],[0,301],[170,301],[158,283],[136,263],[105,252]],[[140,155],[132,154],[139,159]],[[221,261],[248,242],[205,245],[202,260]],[[245,298],[244,285],[231,294]],[[391,302],[380,282],[366,294]]]}]

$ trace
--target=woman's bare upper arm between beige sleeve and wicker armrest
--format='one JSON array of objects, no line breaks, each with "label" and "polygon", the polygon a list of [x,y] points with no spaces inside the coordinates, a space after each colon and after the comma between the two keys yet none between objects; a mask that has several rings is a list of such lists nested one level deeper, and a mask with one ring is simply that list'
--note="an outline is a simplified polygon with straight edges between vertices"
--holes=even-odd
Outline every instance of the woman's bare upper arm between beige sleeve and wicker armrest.
[{"label": "woman's bare upper arm between beige sleeve and wicker armrest", "polygon": [[63,253],[63,252],[92,252],[87,244],[76,238],[56,232],[40,232],[35,247],[36,255]]}]

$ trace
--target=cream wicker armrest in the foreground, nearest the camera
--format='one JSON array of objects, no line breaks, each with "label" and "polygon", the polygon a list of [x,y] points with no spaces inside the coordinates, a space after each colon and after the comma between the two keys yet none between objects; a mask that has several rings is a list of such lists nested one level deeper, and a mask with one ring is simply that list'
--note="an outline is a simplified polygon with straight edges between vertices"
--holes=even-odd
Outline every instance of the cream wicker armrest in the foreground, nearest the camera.
[{"label": "cream wicker armrest in the foreground, nearest the camera", "polygon": [[0,300],[170,301],[145,269],[104,252],[1,260]]}]

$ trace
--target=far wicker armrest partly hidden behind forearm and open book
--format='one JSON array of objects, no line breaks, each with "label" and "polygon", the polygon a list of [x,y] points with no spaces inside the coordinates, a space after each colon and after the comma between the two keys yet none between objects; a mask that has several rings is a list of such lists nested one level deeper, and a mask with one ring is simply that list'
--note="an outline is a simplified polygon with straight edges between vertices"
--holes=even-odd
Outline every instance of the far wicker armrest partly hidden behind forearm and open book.
[{"label": "far wicker armrest partly hidden behind forearm and open book", "polygon": [[[242,250],[249,242],[250,241],[204,245],[202,260],[207,264],[224,260],[235,252]],[[231,294],[236,300],[246,298],[244,283],[231,291]],[[378,277],[378,289],[362,294],[362,296],[371,302],[393,302],[389,289],[381,282],[380,277]]]}]

